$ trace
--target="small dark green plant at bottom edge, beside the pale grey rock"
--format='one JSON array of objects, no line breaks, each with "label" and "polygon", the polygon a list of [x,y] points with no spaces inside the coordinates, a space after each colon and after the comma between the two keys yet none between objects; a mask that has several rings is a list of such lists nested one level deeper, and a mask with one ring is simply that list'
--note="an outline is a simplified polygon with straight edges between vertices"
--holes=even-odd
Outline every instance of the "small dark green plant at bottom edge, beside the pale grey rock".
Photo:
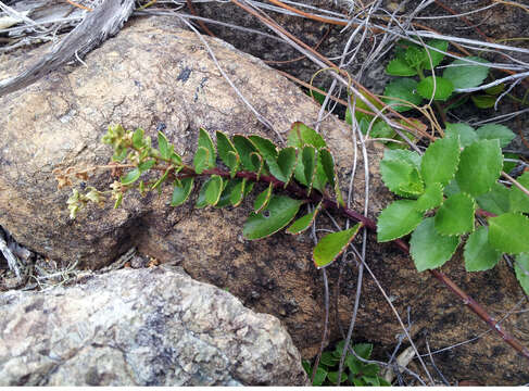
[{"label": "small dark green plant at bottom edge, beside the pale grey rock", "polygon": [[[340,356],[343,352],[345,341],[339,342],[333,351],[326,351],[322,353],[319,366],[314,376],[313,386],[336,386],[338,384],[338,366]],[[371,356],[373,344],[357,343],[352,346],[354,352],[361,358],[368,361]],[[345,370],[341,376],[341,384],[367,387],[367,386],[391,386],[382,377],[379,376],[380,367],[377,364],[368,364],[358,360],[353,353],[348,352],[345,356]],[[303,361],[303,368],[308,378],[312,378],[312,366],[308,361]]]}]

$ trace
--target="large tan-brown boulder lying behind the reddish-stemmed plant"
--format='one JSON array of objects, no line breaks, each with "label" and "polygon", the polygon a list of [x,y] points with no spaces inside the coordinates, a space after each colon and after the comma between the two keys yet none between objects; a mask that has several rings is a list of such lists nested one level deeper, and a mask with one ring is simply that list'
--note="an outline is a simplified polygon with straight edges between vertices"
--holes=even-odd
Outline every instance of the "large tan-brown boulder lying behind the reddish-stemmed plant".
[{"label": "large tan-brown boulder lying behind the reddish-stemmed plant", "polygon": [[[295,86],[261,61],[219,40],[206,39],[242,94],[279,134],[285,136],[294,121],[308,125],[316,121],[318,106]],[[251,200],[237,209],[194,210],[193,200],[169,209],[167,188],[161,197],[142,199],[131,193],[118,210],[111,205],[103,210],[90,207],[76,220],[68,219],[68,191],[56,190],[51,172],[72,164],[108,163],[111,151],[99,140],[110,124],[141,126],[151,136],[155,136],[158,126],[165,126],[168,139],[188,161],[200,126],[212,134],[257,133],[280,142],[241,103],[202,41],[174,27],[171,20],[133,21],[85,61],[88,67],[62,70],[0,98],[0,117],[7,118],[0,123],[0,225],[32,250],[51,258],[78,260],[87,268],[111,263],[131,245],[161,262],[177,262],[191,277],[229,289],[254,311],[278,316],[302,355],[312,357],[320,344],[324,318],[322,275],[312,263],[312,239],[308,235],[278,234],[259,241],[243,240],[241,226]],[[22,66],[20,61],[7,61],[0,77],[17,73]],[[337,156],[345,188],[354,159],[352,136],[347,125],[332,115],[322,123],[320,131]],[[381,148],[373,144],[368,152],[368,214],[375,217],[391,199],[378,175]],[[362,211],[362,156],[356,173],[353,207]],[[106,188],[111,179],[102,174],[91,182]],[[324,214],[318,224],[332,228]],[[428,274],[418,274],[391,244],[376,244],[374,236],[368,240],[367,262],[401,316],[405,318],[410,307],[415,338],[427,331],[434,351],[487,330],[450,291]],[[330,340],[337,340],[340,332],[335,304],[341,324],[347,325],[354,301],[356,267],[350,261],[341,266],[337,263],[328,272],[332,294]],[[443,266],[443,272],[497,318],[522,299],[512,269],[504,263],[493,270],[469,275],[456,256]],[[362,298],[354,338],[374,342],[386,360],[402,330],[368,275]],[[529,344],[529,313],[509,314],[503,325]],[[434,357],[437,366],[444,368],[444,375],[453,381],[529,381],[527,362],[493,332]],[[501,369],[497,362],[502,363]]]}]

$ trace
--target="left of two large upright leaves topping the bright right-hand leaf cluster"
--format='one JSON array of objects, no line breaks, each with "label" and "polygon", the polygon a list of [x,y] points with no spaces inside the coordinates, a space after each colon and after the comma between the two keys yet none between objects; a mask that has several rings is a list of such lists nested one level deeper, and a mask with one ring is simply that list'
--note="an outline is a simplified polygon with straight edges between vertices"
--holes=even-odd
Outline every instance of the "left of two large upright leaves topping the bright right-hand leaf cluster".
[{"label": "left of two large upright leaves topping the bright right-hand leaf cluster", "polygon": [[459,140],[454,137],[438,139],[431,143],[423,155],[420,174],[426,187],[439,182],[449,184],[459,163]]}]

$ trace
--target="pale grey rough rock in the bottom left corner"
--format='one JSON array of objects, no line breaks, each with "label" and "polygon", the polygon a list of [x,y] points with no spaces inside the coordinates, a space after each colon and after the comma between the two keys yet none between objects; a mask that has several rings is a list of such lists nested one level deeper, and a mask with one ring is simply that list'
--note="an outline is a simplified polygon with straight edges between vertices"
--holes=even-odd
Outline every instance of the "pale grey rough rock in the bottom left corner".
[{"label": "pale grey rough rock in the bottom left corner", "polygon": [[0,295],[0,386],[305,386],[280,321],[172,266]]}]

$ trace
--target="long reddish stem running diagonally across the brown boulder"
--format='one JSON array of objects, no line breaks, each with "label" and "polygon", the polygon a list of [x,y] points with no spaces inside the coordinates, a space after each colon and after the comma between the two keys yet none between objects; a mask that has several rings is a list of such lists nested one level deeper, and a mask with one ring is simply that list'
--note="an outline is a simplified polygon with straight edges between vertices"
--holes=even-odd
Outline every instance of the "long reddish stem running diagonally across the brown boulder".
[{"label": "long reddish stem running diagonally across the brown boulder", "polygon": [[[186,173],[186,176],[193,175],[192,173]],[[221,169],[221,168],[212,168],[212,169],[206,169],[200,176],[209,176],[209,175],[218,175],[225,178],[229,178],[230,174],[227,171]],[[198,174],[194,173],[194,176],[199,176]],[[310,200],[312,202],[319,202],[323,200],[323,205],[324,207],[328,210],[333,210],[337,211],[347,217],[350,217],[351,219],[362,223],[366,228],[368,228],[371,231],[376,231],[377,229],[377,224],[360,214],[356,211],[353,211],[349,207],[338,205],[336,201],[331,200],[330,198],[326,195],[322,195],[317,191],[312,191],[311,194],[307,195],[306,189],[303,189],[302,187],[298,186],[298,184],[290,181],[287,186],[285,186],[285,182],[277,179],[276,177],[269,176],[269,175],[261,175],[257,180],[257,175],[255,173],[251,172],[238,172],[236,174],[237,178],[247,178],[253,181],[262,181],[266,184],[273,184],[274,188],[276,189],[286,189],[288,192],[295,194],[297,197],[305,200]],[[396,239],[393,240],[392,243],[396,245],[404,254],[410,255],[410,247],[407,243],[405,243],[402,239]],[[483,319],[492,330],[496,331],[502,339],[508,343],[511,346],[513,346],[517,352],[519,352],[522,356],[529,360],[529,349],[524,346],[516,338],[511,336],[506,330],[504,330],[501,325],[491,316],[489,313],[479,304],[476,302],[473,298],[470,298],[463,289],[461,289],[454,281],[450,279],[449,276],[446,276],[444,273],[439,272],[439,270],[428,270],[433,277],[436,277],[439,281],[441,281],[449,290],[451,290],[454,294],[459,297],[463,300],[463,303],[468,305],[468,307],[476,313],[481,319]]]}]

